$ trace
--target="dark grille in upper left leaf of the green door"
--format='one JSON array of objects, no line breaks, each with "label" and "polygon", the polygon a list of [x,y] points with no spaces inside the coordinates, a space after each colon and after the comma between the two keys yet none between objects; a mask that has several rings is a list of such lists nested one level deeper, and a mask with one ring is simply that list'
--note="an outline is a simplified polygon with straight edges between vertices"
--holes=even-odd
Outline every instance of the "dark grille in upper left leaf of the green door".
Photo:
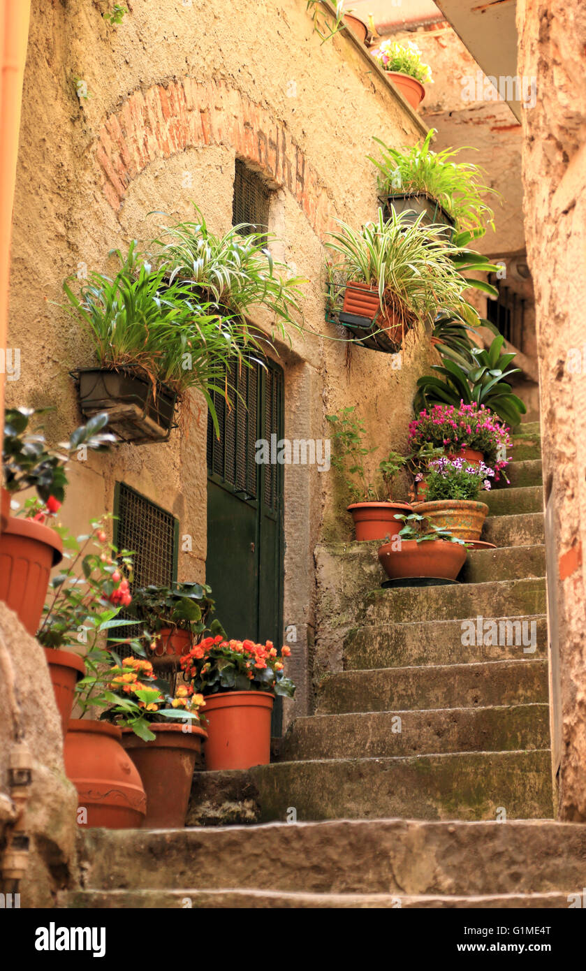
[{"label": "dark grille in upper left leaf of the green door", "polygon": [[227,373],[228,404],[217,391],[213,405],[219,426],[215,435],[212,416],[208,413],[208,469],[237,492],[256,498],[256,409],[258,367],[234,363]]}]

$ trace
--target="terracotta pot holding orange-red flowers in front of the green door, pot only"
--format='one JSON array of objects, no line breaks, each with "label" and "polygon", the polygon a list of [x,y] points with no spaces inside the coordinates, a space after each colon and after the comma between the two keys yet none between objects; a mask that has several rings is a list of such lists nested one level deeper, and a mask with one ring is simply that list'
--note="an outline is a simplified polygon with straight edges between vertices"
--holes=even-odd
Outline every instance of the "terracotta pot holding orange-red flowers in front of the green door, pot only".
[{"label": "terracotta pot holding orange-red flowers in front of the green door, pot only", "polygon": [[222,691],[206,696],[206,768],[249,769],[271,761],[271,714],[267,691]]}]

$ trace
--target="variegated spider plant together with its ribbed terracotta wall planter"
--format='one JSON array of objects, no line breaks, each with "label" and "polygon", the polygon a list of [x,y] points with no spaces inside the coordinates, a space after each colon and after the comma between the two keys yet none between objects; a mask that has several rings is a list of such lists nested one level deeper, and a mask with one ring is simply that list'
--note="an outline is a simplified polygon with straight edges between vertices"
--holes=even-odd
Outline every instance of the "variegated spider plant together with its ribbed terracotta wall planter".
[{"label": "variegated spider plant together with its ribbed terracotta wall planter", "polygon": [[[408,213],[391,211],[355,230],[339,221],[326,246],[337,254],[330,265],[330,309],[364,347],[396,352],[408,330],[431,324],[439,309],[469,317],[463,293],[469,286],[446,244],[441,226],[424,226]],[[475,315],[476,320],[477,315]]]}]

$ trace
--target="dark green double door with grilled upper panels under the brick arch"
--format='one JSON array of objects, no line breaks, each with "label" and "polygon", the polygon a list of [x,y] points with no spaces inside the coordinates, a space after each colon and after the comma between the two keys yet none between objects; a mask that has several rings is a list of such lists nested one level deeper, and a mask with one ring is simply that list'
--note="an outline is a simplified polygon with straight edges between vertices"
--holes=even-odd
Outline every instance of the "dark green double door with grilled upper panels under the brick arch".
[{"label": "dark green double door with grilled upper panels under the brick arch", "polygon": [[[283,437],[283,373],[272,361],[252,362],[229,382],[238,388],[228,409],[214,396],[220,437],[208,419],[208,554],[206,582],[215,616],[230,637],[282,637],[282,466],[255,461],[256,442]],[[273,439],[272,439],[272,436]],[[279,701],[279,699],[277,699]],[[280,705],[273,731],[279,733]]]}]

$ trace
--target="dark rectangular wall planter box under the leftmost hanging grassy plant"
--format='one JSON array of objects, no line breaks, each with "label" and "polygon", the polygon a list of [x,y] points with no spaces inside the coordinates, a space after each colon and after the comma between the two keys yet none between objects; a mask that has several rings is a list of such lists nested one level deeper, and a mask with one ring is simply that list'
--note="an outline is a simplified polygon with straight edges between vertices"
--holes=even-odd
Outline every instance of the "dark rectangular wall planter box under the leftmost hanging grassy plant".
[{"label": "dark rectangular wall planter box under the leftmost hanging grassy plant", "polygon": [[166,442],[176,427],[176,392],[161,384],[155,391],[132,368],[81,368],[72,377],[78,382],[83,418],[107,412],[108,428],[120,442]]}]

